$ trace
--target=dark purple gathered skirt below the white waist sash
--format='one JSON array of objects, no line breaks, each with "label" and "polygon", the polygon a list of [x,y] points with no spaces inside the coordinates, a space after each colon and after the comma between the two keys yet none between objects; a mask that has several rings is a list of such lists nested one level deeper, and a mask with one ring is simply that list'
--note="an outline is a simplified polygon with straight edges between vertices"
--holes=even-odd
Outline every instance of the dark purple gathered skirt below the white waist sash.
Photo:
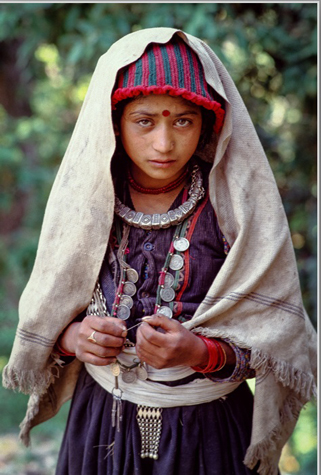
[{"label": "dark purple gathered skirt below the white waist sash", "polygon": [[74,394],[56,475],[254,475],[243,464],[253,397],[246,383],[225,400],[163,409],[159,459],[140,457],[136,405],[123,402],[120,432],[112,396],[84,369]]}]

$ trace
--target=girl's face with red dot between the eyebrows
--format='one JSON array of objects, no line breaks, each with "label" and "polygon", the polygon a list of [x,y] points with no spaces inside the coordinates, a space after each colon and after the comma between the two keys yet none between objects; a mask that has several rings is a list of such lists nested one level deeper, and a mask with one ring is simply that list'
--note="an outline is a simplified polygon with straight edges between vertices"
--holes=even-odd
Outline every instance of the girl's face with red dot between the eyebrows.
[{"label": "girl's face with red dot between the eyebrows", "polygon": [[181,175],[201,130],[200,106],[181,97],[150,94],[125,106],[116,133],[131,159],[135,180],[156,188]]}]

